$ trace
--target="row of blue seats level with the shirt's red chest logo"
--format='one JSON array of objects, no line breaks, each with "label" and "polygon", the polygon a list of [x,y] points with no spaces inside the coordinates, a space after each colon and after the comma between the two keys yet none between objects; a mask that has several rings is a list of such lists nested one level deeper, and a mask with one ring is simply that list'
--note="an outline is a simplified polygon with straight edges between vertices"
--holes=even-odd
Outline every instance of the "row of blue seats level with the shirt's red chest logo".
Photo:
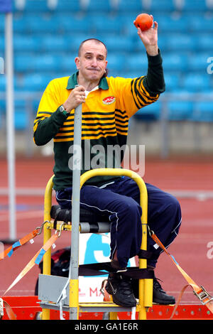
[{"label": "row of blue seats level with the shirt's red chest logo", "polygon": [[[34,116],[38,107],[38,101],[34,102]],[[158,101],[140,109],[134,117],[141,120],[158,121],[161,118],[163,104]],[[168,121],[190,121],[190,122],[213,122],[213,104],[212,102],[192,102],[175,100],[168,102],[168,114],[165,115]],[[26,101],[15,101],[14,126],[16,130],[28,129],[33,126],[33,119],[28,118],[26,112]],[[5,105],[0,101],[0,129],[6,119]]]}]

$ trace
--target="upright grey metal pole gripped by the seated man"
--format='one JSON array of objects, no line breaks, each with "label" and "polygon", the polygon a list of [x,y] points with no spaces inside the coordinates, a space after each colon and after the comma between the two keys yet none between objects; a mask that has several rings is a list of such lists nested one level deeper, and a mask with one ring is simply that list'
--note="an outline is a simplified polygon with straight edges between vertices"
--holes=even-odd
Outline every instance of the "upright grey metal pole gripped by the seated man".
[{"label": "upright grey metal pole gripped by the seated man", "polygon": [[73,166],[72,166],[72,236],[70,254],[70,320],[77,320],[79,314],[79,226],[80,226],[80,173],[82,141],[82,104],[75,108]]}]

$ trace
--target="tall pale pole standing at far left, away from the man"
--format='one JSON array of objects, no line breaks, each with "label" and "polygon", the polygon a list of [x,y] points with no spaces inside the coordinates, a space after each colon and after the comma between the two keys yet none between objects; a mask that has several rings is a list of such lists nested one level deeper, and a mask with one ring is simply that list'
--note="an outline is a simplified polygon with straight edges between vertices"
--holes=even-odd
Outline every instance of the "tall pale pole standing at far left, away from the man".
[{"label": "tall pale pole standing at far left, away from the man", "polygon": [[16,185],[13,99],[13,14],[6,14],[6,133],[9,175],[9,239],[16,239]]}]

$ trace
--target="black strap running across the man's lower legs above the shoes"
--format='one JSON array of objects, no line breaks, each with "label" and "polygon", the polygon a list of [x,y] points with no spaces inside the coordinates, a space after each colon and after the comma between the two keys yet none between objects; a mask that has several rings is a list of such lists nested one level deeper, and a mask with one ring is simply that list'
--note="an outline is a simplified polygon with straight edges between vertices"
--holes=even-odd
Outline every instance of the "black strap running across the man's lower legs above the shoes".
[{"label": "black strap running across the man's lower legs above the shoes", "polygon": [[126,271],[118,271],[111,266],[111,262],[94,264],[80,264],[79,276],[102,276],[109,273],[117,273],[132,279],[153,279],[153,270],[140,269],[138,266],[127,267]]}]

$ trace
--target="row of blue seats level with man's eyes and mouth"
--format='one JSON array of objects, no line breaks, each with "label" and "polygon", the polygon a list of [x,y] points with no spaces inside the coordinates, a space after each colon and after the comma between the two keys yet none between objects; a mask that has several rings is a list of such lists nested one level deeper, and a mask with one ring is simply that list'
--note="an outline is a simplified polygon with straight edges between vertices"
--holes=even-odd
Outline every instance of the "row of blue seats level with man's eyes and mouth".
[{"label": "row of blue seats level with man's eyes and mouth", "polygon": [[[212,69],[212,57],[210,53],[163,53],[163,68],[165,72],[197,72],[204,74],[208,69]],[[1,56],[1,54],[0,54]],[[14,59],[14,69],[17,74],[36,73],[61,73],[73,72],[75,66],[76,53],[66,54],[43,54],[33,55],[33,53],[17,54]],[[115,54],[108,55],[108,68],[111,75],[124,75],[124,72],[146,73],[147,58],[146,54]]]}]

